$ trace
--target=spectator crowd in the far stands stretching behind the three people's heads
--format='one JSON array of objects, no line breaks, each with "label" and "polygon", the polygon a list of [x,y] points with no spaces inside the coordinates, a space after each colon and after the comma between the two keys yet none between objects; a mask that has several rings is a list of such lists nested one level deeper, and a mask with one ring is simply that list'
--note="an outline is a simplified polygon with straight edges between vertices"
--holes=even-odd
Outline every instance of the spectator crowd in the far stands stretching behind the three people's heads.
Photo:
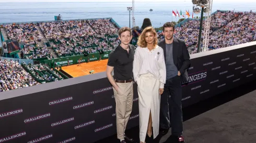
[{"label": "spectator crowd in the far stands stretching behind the three people's heads", "polygon": [[[204,25],[204,21],[203,21]],[[255,12],[217,11],[212,15],[208,49],[223,48],[232,45],[252,42],[255,36],[256,14]],[[40,22],[24,24],[7,24],[6,28],[10,40],[18,40],[28,45],[22,49],[27,59],[53,58],[46,46],[35,47],[42,41],[42,31],[46,39],[52,42],[58,57],[97,53],[113,50],[120,41],[118,40],[118,28],[110,19],[73,20],[61,22]],[[192,53],[196,53],[200,29],[200,21],[189,20],[176,28],[174,37],[186,42]],[[202,35],[203,35],[202,31]],[[158,32],[158,40],[164,39],[164,35]],[[201,38],[203,43],[204,36]],[[136,39],[132,43],[136,45]]]}]

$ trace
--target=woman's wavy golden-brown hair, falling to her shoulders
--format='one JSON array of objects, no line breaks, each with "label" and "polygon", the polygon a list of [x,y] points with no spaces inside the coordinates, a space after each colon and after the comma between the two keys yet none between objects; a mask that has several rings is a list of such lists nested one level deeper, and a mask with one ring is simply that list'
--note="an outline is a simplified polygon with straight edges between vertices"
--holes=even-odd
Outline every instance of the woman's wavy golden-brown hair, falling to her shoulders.
[{"label": "woman's wavy golden-brown hair, falling to her shoulders", "polygon": [[142,48],[146,48],[147,47],[147,42],[145,40],[145,35],[147,32],[152,32],[155,36],[155,40],[154,40],[154,47],[157,45],[157,33],[156,33],[156,30],[153,28],[153,27],[147,27],[145,28],[143,31],[142,31],[142,34],[139,35],[138,37],[138,42],[137,42],[137,45],[139,47],[142,47]]}]

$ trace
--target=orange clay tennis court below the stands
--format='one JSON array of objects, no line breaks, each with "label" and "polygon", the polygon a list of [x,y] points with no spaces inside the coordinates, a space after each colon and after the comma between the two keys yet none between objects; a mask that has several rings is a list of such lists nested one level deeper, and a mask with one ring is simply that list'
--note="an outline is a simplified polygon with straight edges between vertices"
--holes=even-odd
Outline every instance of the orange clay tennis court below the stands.
[{"label": "orange clay tennis court below the stands", "polygon": [[94,70],[94,73],[103,72],[107,69],[108,59],[101,61],[91,61],[89,63],[83,62],[80,64],[74,64],[71,66],[62,67],[62,70],[72,77],[78,77],[90,74],[89,72]]}]

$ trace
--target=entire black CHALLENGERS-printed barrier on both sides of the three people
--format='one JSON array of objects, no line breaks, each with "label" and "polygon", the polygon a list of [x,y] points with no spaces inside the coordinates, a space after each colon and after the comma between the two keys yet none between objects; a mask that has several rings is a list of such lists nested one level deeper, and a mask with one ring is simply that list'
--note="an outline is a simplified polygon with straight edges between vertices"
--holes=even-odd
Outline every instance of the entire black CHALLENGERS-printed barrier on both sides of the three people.
[{"label": "entire black CHALLENGERS-printed barrier on both sides of the three people", "polygon": [[[255,62],[255,46],[192,59],[183,107],[255,80]],[[138,119],[134,84],[127,128],[137,126]],[[94,142],[113,134],[115,102],[107,78],[0,101],[0,143]]]}]

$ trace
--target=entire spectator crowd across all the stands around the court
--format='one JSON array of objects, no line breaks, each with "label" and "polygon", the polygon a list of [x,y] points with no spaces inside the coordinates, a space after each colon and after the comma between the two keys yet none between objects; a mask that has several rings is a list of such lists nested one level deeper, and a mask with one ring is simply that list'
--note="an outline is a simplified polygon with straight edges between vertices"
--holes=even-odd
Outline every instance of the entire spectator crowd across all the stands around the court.
[{"label": "entire spectator crowd across all the stands around the court", "polygon": [[[118,28],[110,19],[13,23],[1,27],[6,29],[9,40],[24,43],[21,52],[25,59],[53,58],[46,45],[38,46],[42,36],[51,42],[59,57],[114,50],[120,44]],[[191,54],[196,53],[199,27],[200,21],[193,19],[177,27],[174,33],[174,37],[181,38],[192,49]],[[255,28],[255,12],[217,11],[211,19],[208,49],[256,41]],[[157,32],[157,38],[164,39],[161,31]],[[136,38],[132,43],[136,45]],[[18,61],[0,59],[0,68],[0,92],[64,79],[61,73],[42,63],[23,63],[22,67]]]}]

